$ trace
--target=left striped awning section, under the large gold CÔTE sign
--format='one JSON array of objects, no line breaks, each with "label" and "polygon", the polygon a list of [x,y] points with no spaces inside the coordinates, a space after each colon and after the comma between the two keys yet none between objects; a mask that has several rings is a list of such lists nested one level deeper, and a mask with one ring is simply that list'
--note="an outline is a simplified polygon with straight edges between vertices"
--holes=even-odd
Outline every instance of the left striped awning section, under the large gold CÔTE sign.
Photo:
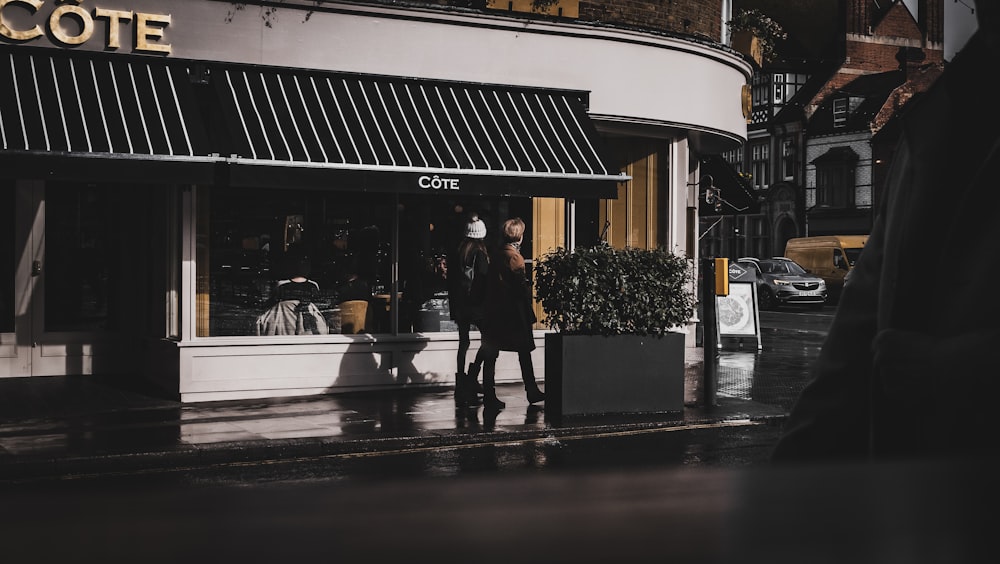
[{"label": "left striped awning section, under the large gold C\u00d4TE sign", "polygon": [[[46,177],[79,178],[73,163],[132,166],[146,176],[155,170],[150,163],[172,162],[200,166],[200,176],[210,178],[219,160],[209,156],[184,65],[3,49],[0,84],[0,150],[5,162],[19,163],[22,171],[39,174],[44,158]],[[53,168],[57,162],[61,166]]]}]

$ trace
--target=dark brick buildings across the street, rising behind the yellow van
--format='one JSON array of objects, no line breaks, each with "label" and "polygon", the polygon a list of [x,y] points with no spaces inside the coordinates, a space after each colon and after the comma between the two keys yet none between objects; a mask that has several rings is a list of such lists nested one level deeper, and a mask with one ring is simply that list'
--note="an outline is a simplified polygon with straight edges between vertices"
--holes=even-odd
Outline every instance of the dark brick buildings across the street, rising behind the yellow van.
[{"label": "dark brick buildings across the street, rising behind the yellow van", "polygon": [[[873,137],[944,69],[943,0],[737,0],[788,33],[752,79],[747,144],[725,154],[758,214],[708,217],[703,254],[771,256],[792,237],[865,234],[891,151]],[[820,26],[819,21],[836,25]],[[891,144],[887,136],[884,143]]]}]

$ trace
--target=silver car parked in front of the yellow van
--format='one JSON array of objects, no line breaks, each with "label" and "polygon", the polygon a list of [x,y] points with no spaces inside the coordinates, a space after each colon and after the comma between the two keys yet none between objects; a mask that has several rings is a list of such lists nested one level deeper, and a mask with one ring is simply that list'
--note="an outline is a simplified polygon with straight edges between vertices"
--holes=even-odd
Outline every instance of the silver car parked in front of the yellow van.
[{"label": "silver car parked in front of the yellow van", "polygon": [[757,303],[761,309],[788,304],[820,309],[826,304],[826,282],[819,276],[809,274],[789,258],[744,257],[737,262],[757,274]]}]

